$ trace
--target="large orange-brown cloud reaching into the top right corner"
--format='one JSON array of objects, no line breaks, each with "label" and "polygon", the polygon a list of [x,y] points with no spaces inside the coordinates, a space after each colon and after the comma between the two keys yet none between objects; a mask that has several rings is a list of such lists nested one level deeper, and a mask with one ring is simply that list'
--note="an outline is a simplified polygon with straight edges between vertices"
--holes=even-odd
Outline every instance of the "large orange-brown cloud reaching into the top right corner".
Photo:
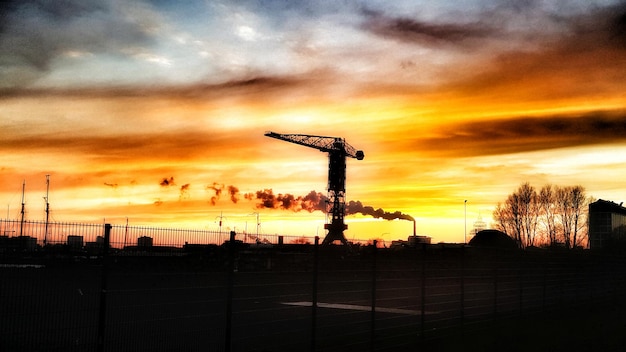
[{"label": "large orange-brown cloud reaching into the top right corner", "polygon": [[533,50],[508,51],[444,90],[486,101],[607,98],[626,81],[626,6],[560,18]]}]

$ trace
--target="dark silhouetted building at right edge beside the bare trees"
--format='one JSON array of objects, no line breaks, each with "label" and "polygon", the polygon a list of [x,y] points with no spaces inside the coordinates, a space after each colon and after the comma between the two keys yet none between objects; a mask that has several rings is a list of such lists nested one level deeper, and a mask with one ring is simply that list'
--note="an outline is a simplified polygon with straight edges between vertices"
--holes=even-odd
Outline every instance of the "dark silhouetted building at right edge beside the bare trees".
[{"label": "dark silhouetted building at right edge beside the bare trees", "polygon": [[626,246],[626,208],[598,199],[589,204],[589,248]]}]

